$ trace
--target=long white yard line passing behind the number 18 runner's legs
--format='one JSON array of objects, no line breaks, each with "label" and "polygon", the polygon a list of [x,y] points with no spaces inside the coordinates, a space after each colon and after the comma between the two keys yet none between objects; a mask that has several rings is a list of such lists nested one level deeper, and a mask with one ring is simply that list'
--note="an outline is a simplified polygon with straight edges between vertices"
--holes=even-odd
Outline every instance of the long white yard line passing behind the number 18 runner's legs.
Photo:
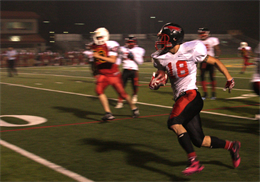
[{"label": "long white yard line passing behind the number 18 runner's legs", "polygon": [[[31,86],[26,86],[26,85],[20,85],[20,84],[12,84],[12,83],[4,83],[4,82],[0,82],[0,84],[17,86],[17,87],[24,87],[24,88],[30,88],[30,89],[36,89],[36,90],[44,90],[44,91],[49,91],[49,92],[79,95],[79,96],[83,96],[83,97],[98,98],[98,96],[94,96],[94,95],[80,94],[80,93],[75,93],[75,92],[66,92],[66,91],[60,91],[60,90],[52,90],[52,89],[46,89],[46,88],[37,88],[37,87],[31,87]],[[118,100],[118,99],[114,99],[114,98],[108,98],[108,99],[114,100],[114,101]],[[163,105],[149,104],[149,103],[144,103],[144,102],[137,102],[137,104],[146,105],[146,106],[153,106],[153,107],[161,107],[161,108],[172,108],[172,106],[163,106]],[[243,119],[248,119],[248,120],[255,120],[255,118],[241,117],[241,116],[236,116],[236,115],[228,115],[228,114],[214,113],[214,112],[208,112],[208,111],[201,111],[201,112],[207,113],[207,114],[213,114],[213,115],[227,116],[227,117],[232,117],[232,118],[243,118]]]}]

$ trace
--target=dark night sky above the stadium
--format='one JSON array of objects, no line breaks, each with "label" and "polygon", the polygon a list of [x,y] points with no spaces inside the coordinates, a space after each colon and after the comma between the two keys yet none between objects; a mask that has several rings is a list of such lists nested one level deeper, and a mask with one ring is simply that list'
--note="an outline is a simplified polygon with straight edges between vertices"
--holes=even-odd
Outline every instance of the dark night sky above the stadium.
[{"label": "dark night sky above the stadium", "polygon": [[[140,33],[158,32],[163,25],[158,20],[163,20],[180,24],[186,33],[203,26],[211,33],[238,29],[260,40],[260,0],[139,1]],[[0,0],[0,10],[34,11],[41,20],[51,21],[49,29],[86,34],[100,26],[111,33],[137,33],[135,7],[135,0]]]}]

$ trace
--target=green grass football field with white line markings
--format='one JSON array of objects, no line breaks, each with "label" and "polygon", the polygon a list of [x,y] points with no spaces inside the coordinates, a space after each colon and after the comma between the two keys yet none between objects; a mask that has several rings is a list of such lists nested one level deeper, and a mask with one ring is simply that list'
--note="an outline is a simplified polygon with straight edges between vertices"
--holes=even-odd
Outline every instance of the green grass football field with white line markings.
[{"label": "green grass football field with white line markings", "polygon": [[[116,119],[104,115],[88,66],[20,67],[19,76],[0,69],[0,181],[5,182],[256,182],[260,181],[260,98],[250,87],[254,67],[239,74],[240,59],[223,59],[236,86],[217,72],[217,100],[201,112],[204,133],[241,141],[241,164],[233,169],[229,152],[196,148],[205,166],[184,176],[186,154],[167,129],[170,86],[148,88],[151,63],[140,66],[138,107],[131,118],[127,104],[115,109],[117,95],[106,90]],[[131,94],[128,83],[127,92]],[[201,87],[199,87],[201,91]]]}]

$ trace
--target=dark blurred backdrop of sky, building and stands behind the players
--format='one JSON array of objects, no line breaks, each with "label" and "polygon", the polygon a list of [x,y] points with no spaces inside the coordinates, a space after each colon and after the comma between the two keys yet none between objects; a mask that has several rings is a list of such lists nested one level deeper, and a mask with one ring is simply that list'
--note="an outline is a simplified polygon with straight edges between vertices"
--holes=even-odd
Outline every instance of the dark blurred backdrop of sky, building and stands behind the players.
[{"label": "dark blurred backdrop of sky, building and stands behind the players", "polygon": [[146,56],[155,50],[156,34],[174,22],[185,41],[208,27],[218,37],[222,56],[237,54],[241,41],[255,48],[260,40],[259,0],[1,0],[0,50],[66,52],[85,49],[90,32],[106,27],[111,39],[124,44],[135,34]]}]

